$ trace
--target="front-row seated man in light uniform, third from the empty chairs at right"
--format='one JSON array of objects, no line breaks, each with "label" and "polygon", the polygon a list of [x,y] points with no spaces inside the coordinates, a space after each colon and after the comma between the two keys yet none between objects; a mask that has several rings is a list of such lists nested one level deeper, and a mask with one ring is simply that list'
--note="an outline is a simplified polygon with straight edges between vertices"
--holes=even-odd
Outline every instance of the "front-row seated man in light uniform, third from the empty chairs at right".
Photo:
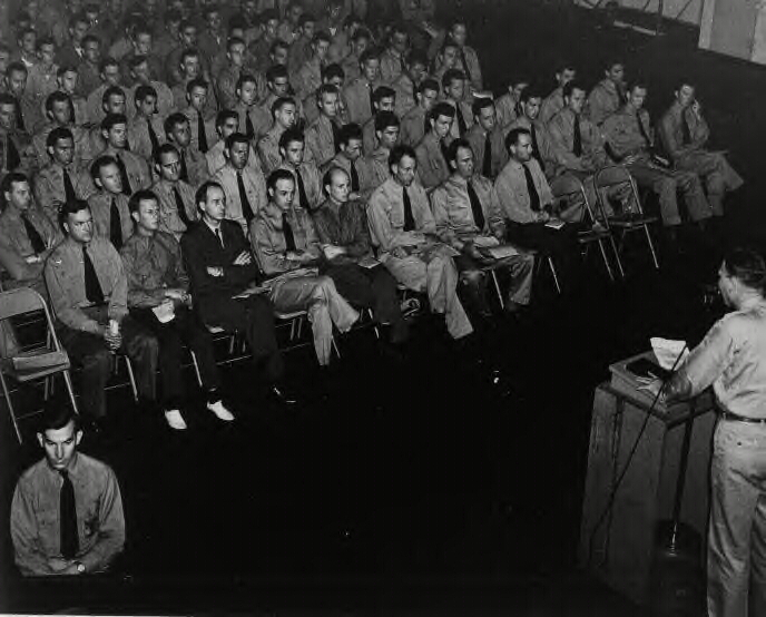
[{"label": "front-row seated man in light uniform, third from the empty chairs at right", "polygon": [[425,189],[415,178],[418,158],[409,146],[396,146],[389,160],[391,177],[370,197],[367,217],[379,259],[414,291],[425,290],[431,311],[444,313],[453,339],[473,326],[458,298],[458,270],[452,247],[436,242],[436,224]]}]

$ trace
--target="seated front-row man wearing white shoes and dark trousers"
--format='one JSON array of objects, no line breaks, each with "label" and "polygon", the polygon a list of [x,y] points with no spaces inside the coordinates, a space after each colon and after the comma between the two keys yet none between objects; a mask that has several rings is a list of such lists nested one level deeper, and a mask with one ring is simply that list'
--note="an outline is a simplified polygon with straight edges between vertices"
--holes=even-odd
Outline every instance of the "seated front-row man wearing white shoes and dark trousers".
[{"label": "seated front-row man wearing white shoes and dark trousers", "polygon": [[[220,378],[210,334],[192,312],[189,280],[180,246],[170,234],[159,231],[157,196],[146,189],[135,193],[130,197],[130,216],[136,223],[136,232],[120,252],[128,278],[128,308],[159,343],[165,419],[175,430],[186,429],[180,410],[190,403],[185,395],[181,374],[184,344],[187,344],[199,366],[206,408],[218,419],[230,422],[234,415],[220,400]],[[164,315],[163,321],[158,311]],[[165,321],[169,315],[171,319]]]}]

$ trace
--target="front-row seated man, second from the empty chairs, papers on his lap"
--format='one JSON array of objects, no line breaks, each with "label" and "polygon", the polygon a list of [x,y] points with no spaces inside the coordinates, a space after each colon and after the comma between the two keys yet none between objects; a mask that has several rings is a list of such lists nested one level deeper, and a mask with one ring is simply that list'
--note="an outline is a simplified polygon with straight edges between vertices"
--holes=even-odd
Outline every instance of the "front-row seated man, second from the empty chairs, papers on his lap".
[{"label": "front-row seated man, second from the empty chairs, papers on his lap", "polygon": [[450,144],[448,161],[452,175],[431,194],[436,233],[444,244],[461,253],[455,264],[477,312],[490,315],[487,274],[482,268],[492,266],[511,278],[503,304],[508,313],[514,313],[520,305],[529,304],[534,257],[518,251],[502,257],[492,255],[492,248],[505,237],[503,213],[492,182],[474,173],[473,150],[465,139]]}]

